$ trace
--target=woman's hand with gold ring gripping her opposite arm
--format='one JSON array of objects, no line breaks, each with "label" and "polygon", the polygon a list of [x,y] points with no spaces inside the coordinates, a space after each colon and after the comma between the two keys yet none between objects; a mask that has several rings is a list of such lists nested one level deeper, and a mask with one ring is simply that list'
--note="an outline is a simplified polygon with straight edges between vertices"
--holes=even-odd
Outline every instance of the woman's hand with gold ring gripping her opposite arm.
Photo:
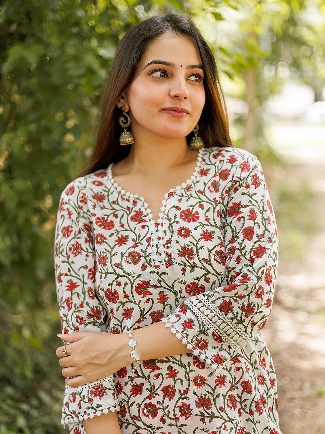
[{"label": "woman's hand with gold ring gripping her opposite arm", "polygon": [[76,378],[65,379],[70,387],[101,380],[133,362],[127,333],[115,335],[107,332],[73,332],[58,336],[69,342],[65,347],[68,356],[63,355],[63,346],[58,347],[55,352],[62,366],[62,375],[78,375]]}]

